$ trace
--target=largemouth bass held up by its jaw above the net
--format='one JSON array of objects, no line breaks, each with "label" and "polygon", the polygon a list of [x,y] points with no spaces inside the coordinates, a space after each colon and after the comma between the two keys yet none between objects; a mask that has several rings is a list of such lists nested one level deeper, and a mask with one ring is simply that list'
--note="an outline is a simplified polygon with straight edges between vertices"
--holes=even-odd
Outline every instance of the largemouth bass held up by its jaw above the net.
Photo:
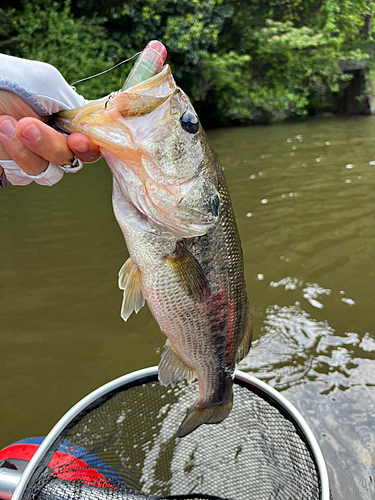
[{"label": "largemouth bass held up by its jaw above the net", "polygon": [[145,300],[168,337],[163,385],[198,379],[177,436],[232,408],[236,362],[252,324],[241,243],[220,163],[170,67],[126,91],[59,113],[56,123],[100,146],[130,258],[119,273],[121,315]]}]

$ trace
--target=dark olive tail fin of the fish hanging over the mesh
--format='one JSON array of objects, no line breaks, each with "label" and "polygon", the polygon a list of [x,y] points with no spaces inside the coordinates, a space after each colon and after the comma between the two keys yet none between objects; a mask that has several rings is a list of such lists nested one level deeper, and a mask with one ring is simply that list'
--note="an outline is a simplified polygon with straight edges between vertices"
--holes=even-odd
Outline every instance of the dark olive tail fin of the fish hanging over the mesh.
[{"label": "dark olive tail fin of the fish hanging over the mesh", "polygon": [[177,437],[184,437],[193,432],[202,424],[218,424],[229,415],[233,406],[233,393],[229,401],[220,405],[209,408],[199,408],[193,406],[188,411],[186,417],[182,421]]}]

